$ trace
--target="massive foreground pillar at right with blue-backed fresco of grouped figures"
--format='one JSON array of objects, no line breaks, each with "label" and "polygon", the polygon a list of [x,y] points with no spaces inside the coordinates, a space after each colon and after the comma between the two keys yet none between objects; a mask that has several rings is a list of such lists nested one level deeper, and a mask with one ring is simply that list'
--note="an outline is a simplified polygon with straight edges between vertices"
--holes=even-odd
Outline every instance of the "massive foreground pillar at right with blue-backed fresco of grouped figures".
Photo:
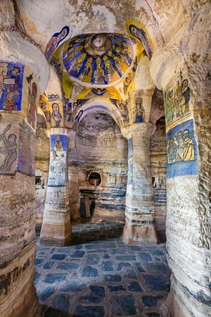
[{"label": "massive foreground pillar at right with blue-backed fresco of grouped figures", "polygon": [[[198,39],[187,39],[191,54],[184,63],[181,49],[175,55],[161,52],[152,63],[164,92],[167,130],[166,235],[172,275],[163,315],[206,317],[211,316],[210,57]],[[208,44],[208,37],[202,39]]]}]

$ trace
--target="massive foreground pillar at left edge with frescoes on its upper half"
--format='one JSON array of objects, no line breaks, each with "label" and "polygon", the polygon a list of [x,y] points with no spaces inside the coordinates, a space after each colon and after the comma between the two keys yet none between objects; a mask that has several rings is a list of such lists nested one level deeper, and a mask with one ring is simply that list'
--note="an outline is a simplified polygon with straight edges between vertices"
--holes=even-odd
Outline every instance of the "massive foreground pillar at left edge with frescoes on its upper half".
[{"label": "massive foreground pillar at left edge with frescoes on its upper half", "polygon": [[0,56],[0,316],[34,317],[34,141],[46,61],[15,32],[1,32]]}]

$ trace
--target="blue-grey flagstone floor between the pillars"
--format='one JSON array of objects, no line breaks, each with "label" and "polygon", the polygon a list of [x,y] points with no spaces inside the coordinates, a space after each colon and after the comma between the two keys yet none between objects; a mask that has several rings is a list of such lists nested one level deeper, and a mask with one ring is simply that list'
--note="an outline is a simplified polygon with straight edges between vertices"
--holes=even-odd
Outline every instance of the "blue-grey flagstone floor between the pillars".
[{"label": "blue-grey flagstone floor between the pillars", "polygon": [[160,316],[170,288],[165,244],[124,244],[120,224],[72,228],[70,247],[41,247],[37,236],[35,286],[45,317]]}]

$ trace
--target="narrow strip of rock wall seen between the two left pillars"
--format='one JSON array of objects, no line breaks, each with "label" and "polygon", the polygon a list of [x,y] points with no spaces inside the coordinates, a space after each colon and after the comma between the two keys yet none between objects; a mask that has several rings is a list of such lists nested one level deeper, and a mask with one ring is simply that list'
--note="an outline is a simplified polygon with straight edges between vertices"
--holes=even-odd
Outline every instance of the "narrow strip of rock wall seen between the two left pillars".
[{"label": "narrow strip of rock wall seen between the two left pillars", "polygon": [[46,135],[46,119],[38,114],[35,147],[36,223],[41,224],[49,177],[49,137]]}]

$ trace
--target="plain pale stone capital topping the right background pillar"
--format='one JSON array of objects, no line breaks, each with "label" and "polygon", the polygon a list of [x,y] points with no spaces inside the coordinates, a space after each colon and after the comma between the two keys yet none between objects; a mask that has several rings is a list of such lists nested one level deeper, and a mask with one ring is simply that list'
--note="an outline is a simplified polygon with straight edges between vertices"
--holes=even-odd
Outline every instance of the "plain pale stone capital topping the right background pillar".
[{"label": "plain pale stone capital topping the right background pillar", "polygon": [[151,123],[133,123],[121,129],[123,137],[130,139],[132,135],[148,135],[151,134]]}]

